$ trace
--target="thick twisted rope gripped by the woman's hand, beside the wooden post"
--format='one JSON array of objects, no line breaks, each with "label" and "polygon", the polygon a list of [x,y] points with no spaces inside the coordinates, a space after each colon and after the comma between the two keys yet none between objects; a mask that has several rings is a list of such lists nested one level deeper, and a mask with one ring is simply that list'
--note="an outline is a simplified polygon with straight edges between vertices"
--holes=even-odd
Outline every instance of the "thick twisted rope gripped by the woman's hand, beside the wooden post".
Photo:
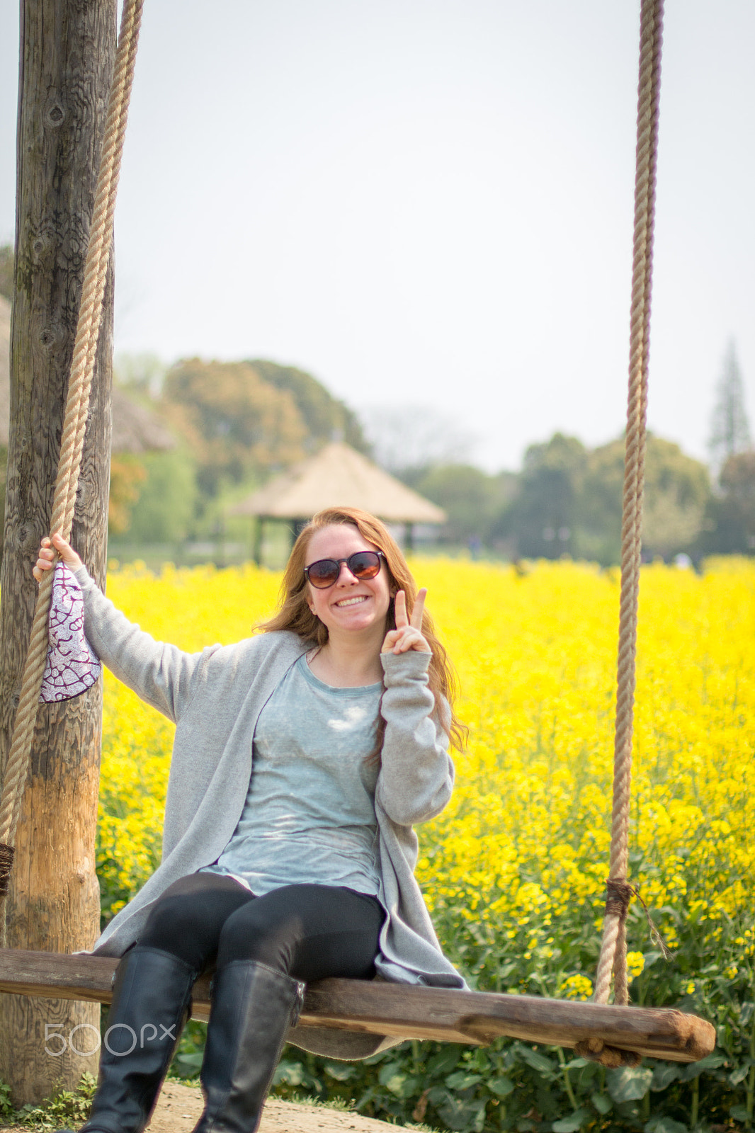
[{"label": "thick twisted rope gripped by the woman's hand, beside the wooden post", "polygon": [[[51,531],[60,531],[65,538],[69,537],[74,521],[84,433],[100,335],[102,303],[112,245],[116,193],[120,176],[143,7],[144,0],[126,0],[124,3],[116,66],[108,103],[50,522]],[[46,661],[48,614],[52,578],[53,572],[48,571],[40,583],[14,724],[14,736],[2,784],[2,799],[0,800],[0,944],[3,946],[6,943],[5,902],[12,863],[12,847],[28,775],[40,688]]]}]

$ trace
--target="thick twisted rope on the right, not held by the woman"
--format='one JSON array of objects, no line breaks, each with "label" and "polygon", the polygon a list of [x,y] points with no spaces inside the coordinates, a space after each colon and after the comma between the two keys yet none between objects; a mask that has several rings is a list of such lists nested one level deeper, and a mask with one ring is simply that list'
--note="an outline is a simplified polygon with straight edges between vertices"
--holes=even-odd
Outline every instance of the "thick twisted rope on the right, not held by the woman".
[{"label": "thick twisted rope on the right, not held by the woman", "polygon": [[614,1002],[629,1002],[627,988],[626,918],[631,898],[627,884],[629,857],[629,787],[634,724],[637,608],[642,550],[642,510],[647,417],[655,167],[661,84],[663,0],[643,0],[639,29],[637,97],[637,172],[629,343],[629,399],[621,525],[621,602],[617,665],[616,739],[613,749],[613,811],[611,862],[603,939],[594,999],[608,1003],[611,971]]}]

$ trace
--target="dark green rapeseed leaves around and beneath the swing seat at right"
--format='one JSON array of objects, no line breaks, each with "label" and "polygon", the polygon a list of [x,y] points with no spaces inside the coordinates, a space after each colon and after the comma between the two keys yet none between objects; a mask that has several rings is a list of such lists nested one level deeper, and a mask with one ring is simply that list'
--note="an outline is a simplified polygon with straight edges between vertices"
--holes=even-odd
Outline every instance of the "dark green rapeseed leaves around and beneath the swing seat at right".
[{"label": "dark green rapeseed leaves around and beneath the swing seat at right", "polygon": [[[559,972],[594,963],[596,943],[591,934],[596,934],[592,925],[585,932],[577,923],[579,913],[575,910],[575,923],[560,926],[562,949],[549,959],[541,954],[533,957],[534,963],[516,955],[508,960],[504,949],[503,990],[554,994]],[[696,1127],[730,1128],[732,1121],[750,1128],[755,980],[752,965],[733,977],[727,969],[727,959],[740,955],[735,940],[749,920],[745,915],[739,925],[718,926],[726,929],[716,942],[719,959],[704,965],[694,980],[690,969],[695,954],[703,953],[706,945],[693,925],[680,925],[679,953],[672,965],[648,952],[645,971],[633,985],[635,1002],[678,1006],[716,1024],[719,1047],[703,1062],[687,1065],[646,1059],[638,1067],[605,1071],[569,1050],[500,1039],[485,1048],[412,1041],[363,1063],[343,1064],[289,1046],[275,1074],[274,1092],[281,1098],[298,1091],[322,1101],[341,1099],[368,1116],[400,1124],[427,1121],[459,1133],[687,1133]],[[438,915],[435,923],[443,938]],[[701,928],[703,936],[715,932],[712,926],[705,929],[699,923],[697,932]],[[468,925],[466,929],[468,932]],[[453,949],[449,951],[458,961]],[[483,953],[478,960],[482,965],[470,974],[473,985],[483,989],[490,987],[483,980],[485,969],[498,966],[499,960],[492,953]]]}]

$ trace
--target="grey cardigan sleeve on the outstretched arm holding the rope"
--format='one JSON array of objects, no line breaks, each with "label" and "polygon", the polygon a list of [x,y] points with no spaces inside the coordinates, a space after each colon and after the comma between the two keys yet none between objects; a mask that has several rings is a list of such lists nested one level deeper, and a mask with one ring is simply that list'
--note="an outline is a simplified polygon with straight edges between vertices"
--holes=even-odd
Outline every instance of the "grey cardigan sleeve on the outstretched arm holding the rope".
[{"label": "grey cardigan sleeve on the outstretched arm holding the rope", "polygon": [[155,641],[116,610],[85,566],[74,573],[84,595],[84,632],[100,661],[176,723],[192,699],[203,658],[214,650],[184,653],[175,645]]}]

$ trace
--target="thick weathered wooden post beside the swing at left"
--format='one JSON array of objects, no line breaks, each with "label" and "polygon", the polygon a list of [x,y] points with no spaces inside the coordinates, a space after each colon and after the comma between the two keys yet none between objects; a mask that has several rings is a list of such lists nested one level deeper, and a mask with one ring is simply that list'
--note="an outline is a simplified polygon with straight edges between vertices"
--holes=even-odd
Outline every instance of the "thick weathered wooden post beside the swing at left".
[{"label": "thick weathered wooden post beside the swing at left", "polygon": [[[0,603],[0,767],[35,598],[32,565],[49,530],[84,256],[116,49],[116,0],[22,0],[10,440]],[[104,582],[110,472],[112,279],[71,542]],[[102,688],[41,705],[7,903],[8,943],[92,946],[100,894],[94,838]],[[16,1105],[95,1072],[100,1012],[0,996],[0,1077]],[[75,1028],[78,1030],[74,1031]],[[73,1033],[71,1033],[73,1032]],[[46,1049],[45,1049],[46,1048]]]}]

